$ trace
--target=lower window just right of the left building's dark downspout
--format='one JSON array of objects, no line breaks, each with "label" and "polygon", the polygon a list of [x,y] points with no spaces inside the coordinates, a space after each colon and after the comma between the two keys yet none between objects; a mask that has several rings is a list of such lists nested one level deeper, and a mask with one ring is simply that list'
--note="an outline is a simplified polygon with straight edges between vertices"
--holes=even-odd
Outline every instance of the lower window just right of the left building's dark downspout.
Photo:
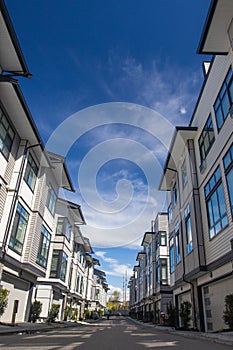
[{"label": "lower window just right of the left building's dark downspout", "polygon": [[23,250],[23,243],[27,230],[28,219],[29,214],[22,207],[22,205],[18,203],[9,246],[19,254],[21,254]]}]

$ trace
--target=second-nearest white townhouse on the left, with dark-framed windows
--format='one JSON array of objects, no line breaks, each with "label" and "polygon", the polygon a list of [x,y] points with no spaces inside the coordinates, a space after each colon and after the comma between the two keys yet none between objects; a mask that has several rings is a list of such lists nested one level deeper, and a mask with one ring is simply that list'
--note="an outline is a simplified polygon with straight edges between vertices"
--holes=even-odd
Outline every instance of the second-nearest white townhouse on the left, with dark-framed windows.
[{"label": "second-nearest white townhouse on the left, with dark-framed windows", "polygon": [[39,263],[46,268],[45,276],[38,277],[34,298],[42,303],[41,319],[47,319],[51,305],[60,305],[59,319],[66,306],[76,310],[80,317],[84,302],[85,252],[92,251],[78,225],[85,224],[79,205],[58,198],[54,207],[52,230],[46,232],[48,258],[40,256]]}]

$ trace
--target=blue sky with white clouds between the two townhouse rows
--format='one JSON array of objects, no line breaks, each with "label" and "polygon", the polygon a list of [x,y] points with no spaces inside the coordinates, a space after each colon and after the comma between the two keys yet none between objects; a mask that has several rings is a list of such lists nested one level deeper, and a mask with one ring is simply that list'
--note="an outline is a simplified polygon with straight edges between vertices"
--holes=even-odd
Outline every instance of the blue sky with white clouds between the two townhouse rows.
[{"label": "blue sky with white clouds between the two townhouse rows", "polygon": [[157,187],[175,125],[187,125],[209,57],[196,49],[210,0],[6,0],[33,74],[20,86],[41,136],[66,156],[111,288],[132,274],[166,209]]}]

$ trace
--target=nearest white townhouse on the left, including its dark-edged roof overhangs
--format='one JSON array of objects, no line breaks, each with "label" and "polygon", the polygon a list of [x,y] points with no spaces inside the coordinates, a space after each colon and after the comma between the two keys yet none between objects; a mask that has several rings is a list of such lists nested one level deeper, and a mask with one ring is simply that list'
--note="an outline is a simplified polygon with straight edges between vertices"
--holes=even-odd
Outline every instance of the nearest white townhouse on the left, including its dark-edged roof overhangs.
[{"label": "nearest white townhouse on the left, including its dark-edged roof overhangs", "polygon": [[51,173],[49,156],[15,79],[30,73],[3,1],[0,32],[0,279],[9,290],[2,320],[18,322],[28,319],[37,276],[45,274],[37,261],[43,250],[42,225],[50,228],[51,214],[48,222],[44,215],[51,211],[59,187],[73,188],[64,163]]}]

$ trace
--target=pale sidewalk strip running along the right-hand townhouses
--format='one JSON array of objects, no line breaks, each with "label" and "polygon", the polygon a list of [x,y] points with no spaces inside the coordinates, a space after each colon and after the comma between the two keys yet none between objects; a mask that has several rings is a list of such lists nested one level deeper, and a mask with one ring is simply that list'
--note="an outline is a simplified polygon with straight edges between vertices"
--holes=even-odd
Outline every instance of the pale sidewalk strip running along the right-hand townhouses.
[{"label": "pale sidewalk strip running along the right-hand townhouses", "polygon": [[159,325],[155,325],[153,323],[144,323],[142,321],[138,321],[138,320],[135,320],[132,318],[131,318],[131,320],[134,321],[135,323],[139,323],[140,325],[143,325],[145,327],[156,328],[161,332],[168,332],[171,334],[180,335],[182,337],[188,337],[188,338],[193,338],[193,339],[205,339],[205,340],[209,340],[209,341],[212,341],[215,343],[233,346],[233,331],[218,332],[218,333],[182,331],[182,330],[176,330],[173,327],[159,326]]}]

